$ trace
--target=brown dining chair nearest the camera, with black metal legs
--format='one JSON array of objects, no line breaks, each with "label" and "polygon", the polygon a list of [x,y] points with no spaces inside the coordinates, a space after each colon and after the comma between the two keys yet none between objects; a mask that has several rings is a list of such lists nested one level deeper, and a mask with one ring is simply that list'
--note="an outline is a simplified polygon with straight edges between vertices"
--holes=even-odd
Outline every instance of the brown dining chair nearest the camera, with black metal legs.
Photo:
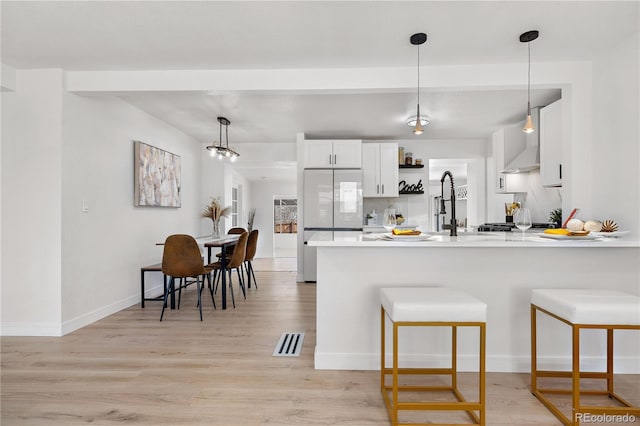
[{"label": "brown dining chair nearest the camera, with black metal legs", "polygon": [[[205,266],[200,253],[198,243],[191,235],[175,234],[169,235],[164,242],[164,251],[162,254],[162,273],[170,277],[169,282],[165,280],[164,284],[164,303],[162,304],[162,313],[160,314],[160,321],[164,316],[164,310],[167,307],[167,298],[171,293],[175,296],[175,280],[179,279],[179,290],[187,284],[183,284],[183,280],[186,283],[187,278],[195,278],[197,293],[198,293],[198,309],[200,311],[200,321],[202,321],[202,300],[200,297],[201,288],[204,284],[204,277],[209,280],[209,286],[211,286],[211,271],[210,266]],[[200,282],[202,278],[202,283]],[[216,302],[211,295],[211,301],[213,302],[213,308],[216,307]]]}]

